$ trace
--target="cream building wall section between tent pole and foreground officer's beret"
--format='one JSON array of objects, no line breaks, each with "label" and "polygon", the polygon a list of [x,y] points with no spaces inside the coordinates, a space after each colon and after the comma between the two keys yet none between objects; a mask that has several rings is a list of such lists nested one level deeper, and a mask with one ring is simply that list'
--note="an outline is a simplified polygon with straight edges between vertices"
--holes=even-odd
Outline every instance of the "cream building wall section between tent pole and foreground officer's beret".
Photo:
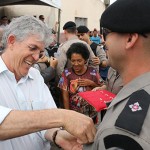
[{"label": "cream building wall section between tent pole and foreground officer's beret", "polygon": [[90,30],[99,30],[99,19],[105,10],[101,0],[62,0],[60,31],[67,21],[75,21],[75,17],[87,18]]}]

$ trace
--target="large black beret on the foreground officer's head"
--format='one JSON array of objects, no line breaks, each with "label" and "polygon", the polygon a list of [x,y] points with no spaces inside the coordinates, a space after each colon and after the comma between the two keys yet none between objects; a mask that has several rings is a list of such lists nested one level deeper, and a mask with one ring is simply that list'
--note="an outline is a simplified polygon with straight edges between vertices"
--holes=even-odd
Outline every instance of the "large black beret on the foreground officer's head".
[{"label": "large black beret on the foreground officer's head", "polygon": [[103,12],[100,26],[120,33],[149,33],[150,0],[117,0]]}]

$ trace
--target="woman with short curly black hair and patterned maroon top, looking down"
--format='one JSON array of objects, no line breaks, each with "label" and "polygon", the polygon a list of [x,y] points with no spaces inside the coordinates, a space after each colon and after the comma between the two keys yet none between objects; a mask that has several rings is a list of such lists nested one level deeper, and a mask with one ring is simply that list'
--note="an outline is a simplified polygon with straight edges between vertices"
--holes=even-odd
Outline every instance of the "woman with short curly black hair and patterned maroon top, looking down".
[{"label": "woman with short curly black hair and patterned maroon top, looking down", "polygon": [[72,44],[67,51],[67,58],[72,67],[64,70],[58,84],[62,89],[64,108],[93,117],[95,112],[89,112],[89,107],[78,93],[90,91],[98,86],[105,88],[104,82],[94,68],[87,66],[89,51],[83,43]]}]

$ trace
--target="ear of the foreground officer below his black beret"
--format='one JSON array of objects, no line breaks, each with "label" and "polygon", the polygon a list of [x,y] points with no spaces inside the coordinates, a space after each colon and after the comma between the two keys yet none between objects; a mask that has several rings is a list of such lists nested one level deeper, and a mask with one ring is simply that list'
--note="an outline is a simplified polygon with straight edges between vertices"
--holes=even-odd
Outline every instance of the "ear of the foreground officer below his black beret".
[{"label": "ear of the foreground officer below his black beret", "polygon": [[128,34],[128,37],[126,40],[126,49],[133,47],[138,37],[139,35],[137,33]]}]

